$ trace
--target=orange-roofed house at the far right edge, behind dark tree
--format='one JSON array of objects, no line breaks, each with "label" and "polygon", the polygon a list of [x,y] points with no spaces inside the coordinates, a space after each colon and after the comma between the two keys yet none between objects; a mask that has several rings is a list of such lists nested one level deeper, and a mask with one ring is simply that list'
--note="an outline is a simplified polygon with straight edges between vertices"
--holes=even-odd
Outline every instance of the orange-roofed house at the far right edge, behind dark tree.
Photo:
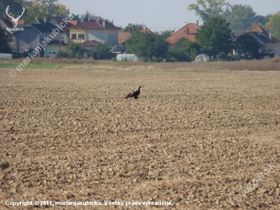
[{"label": "orange-roofed house at the far right edge, behind dark tree", "polygon": [[259,59],[280,56],[280,42],[271,35],[271,32],[268,33],[258,24],[251,28],[248,32],[233,32],[236,38],[245,33],[253,35],[261,44],[261,47],[259,49]]}]

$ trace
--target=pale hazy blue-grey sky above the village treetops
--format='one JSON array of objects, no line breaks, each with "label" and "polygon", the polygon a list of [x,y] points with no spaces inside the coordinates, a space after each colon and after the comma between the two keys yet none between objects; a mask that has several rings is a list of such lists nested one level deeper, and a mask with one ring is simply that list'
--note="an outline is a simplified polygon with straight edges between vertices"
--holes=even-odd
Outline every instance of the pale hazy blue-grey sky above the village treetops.
[{"label": "pale hazy blue-grey sky above the village treetops", "polygon": [[[231,5],[242,4],[253,7],[257,15],[277,13],[280,10],[280,0],[227,0]],[[151,31],[179,30],[188,22],[202,24],[194,11],[188,11],[189,4],[196,4],[196,0],[58,0],[65,5],[71,13],[91,14],[114,20],[116,26],[123,28],[128,23],[145,23]]]}]

